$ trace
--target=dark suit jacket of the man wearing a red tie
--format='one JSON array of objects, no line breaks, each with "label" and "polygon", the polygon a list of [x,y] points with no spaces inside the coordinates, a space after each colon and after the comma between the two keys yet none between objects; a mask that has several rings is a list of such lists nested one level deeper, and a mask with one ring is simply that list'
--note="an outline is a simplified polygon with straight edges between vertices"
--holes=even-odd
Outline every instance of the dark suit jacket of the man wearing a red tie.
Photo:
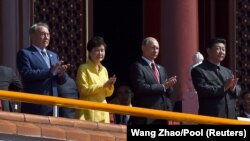
[{"label": "dark suit jacket of the man wearing a red tie", "polygon": [[[130,79],[134,91],[132,105],[158,110],[172,110],[170,95],[173,93],[173,89],[165,90],[162,84],[167,78],[166,70],[159,64],[156,66],[161,84],[158,83],[153,70],[144,59],[141,58],[131,66]],[[166,120],[131,117],[129,122],[132,124],[162,124],[166,123]]]}]

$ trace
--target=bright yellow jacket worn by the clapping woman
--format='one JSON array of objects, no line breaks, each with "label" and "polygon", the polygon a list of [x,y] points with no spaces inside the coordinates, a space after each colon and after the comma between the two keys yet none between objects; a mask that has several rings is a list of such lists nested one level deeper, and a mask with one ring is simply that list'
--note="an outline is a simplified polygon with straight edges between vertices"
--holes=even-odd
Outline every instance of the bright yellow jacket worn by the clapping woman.
[{"label": "bright yellow jacket worn by the clapping woman", "polygon": [[[107,103],[106,97],[111,96],[114,92],[114,86],[103,88],[108,79],[108,71],[102,64],[100,64],[99,72],[97,72],[91,60],[87,60],[85,64],[81,64],[76,77],[80,99]],[[110,123],[109,112],[84,109],[78,111],[78,116],[81,120]]]}]

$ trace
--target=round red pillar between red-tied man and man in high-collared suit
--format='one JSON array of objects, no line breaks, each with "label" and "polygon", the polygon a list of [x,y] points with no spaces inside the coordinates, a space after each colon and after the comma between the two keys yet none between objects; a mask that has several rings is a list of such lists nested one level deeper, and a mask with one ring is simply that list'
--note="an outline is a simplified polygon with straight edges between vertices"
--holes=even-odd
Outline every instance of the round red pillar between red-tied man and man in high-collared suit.
[{"label": "round red pillar between red-tied man and man in high-collared suit", "polygon": [[[189,99],[189,68],[198,51],[198,0],[161,0],[160,63],[170,76],[177,75],[174,98],[182,100],[182,111],[198,108]],[[185,105],[186,104],[186,105]],[[188,107],[187,107],[188,106]]]}]

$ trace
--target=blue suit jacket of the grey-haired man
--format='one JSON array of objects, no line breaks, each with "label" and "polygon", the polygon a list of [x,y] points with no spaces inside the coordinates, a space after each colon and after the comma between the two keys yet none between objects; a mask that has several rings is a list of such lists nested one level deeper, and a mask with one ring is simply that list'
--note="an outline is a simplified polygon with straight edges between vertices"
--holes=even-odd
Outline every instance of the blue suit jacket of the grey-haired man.
[{"label": "blue suit jacket of the grey-haired man", "polygon": [[[50,65],[54,65],[59,61],[56,53],[47,50],[47,54]],[[66,81],[66,73],[61,77],[52,74],[42,55],[34,46],[18,51],[16,59],[24,92],[57,96],[57,84],[63,84]],[[52,115],[53,113],[52,106],[30,103],[22,103],[21,112],[39,115]]]}]

